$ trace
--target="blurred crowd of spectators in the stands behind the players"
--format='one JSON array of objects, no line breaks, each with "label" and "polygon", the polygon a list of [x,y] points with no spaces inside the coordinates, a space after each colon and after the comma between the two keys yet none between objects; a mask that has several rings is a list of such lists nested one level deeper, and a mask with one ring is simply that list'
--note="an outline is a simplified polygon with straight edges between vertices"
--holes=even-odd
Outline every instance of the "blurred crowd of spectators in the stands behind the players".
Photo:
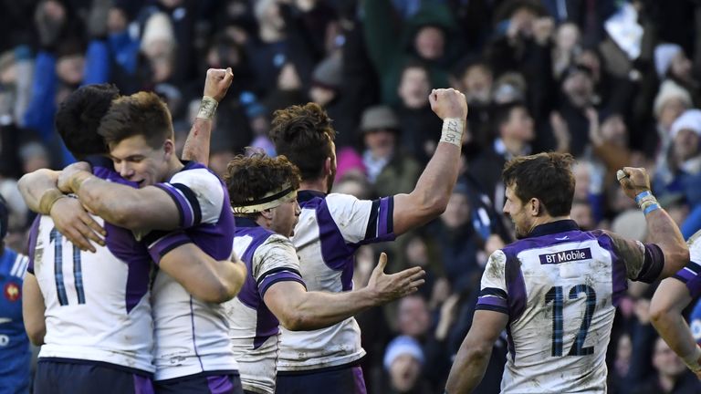
[{"label": "blurred crowd of spectators in the stands behind the players", "polygon": [[[73,161],[53,117],[68,92],[111,82],[152,90],[182,144],[205,70],[235,79],[215,119],[210,165],[246,146],[274,155],[276,109],[315,101],[338,131],[337,191],[411,192],[440,137],[428,103],[453,87],[469,104],[463,170],[445,213],[356,257],[421,265],[417,295],[363,313],[371,393],[440,392],[474,312],[487,256],[513,240],[501,214],[503,164],[543,150],[578,160],[572,217],[641,241],[643,213],[615,171],[643,166],[685,238],[701,228],[701,2],[692,0],[23,0],[3,1],[0,193],[6,243],[26,249],[28,171]],[[302,262],[304,264],[304,262]],[[647,312],[654,286],[631,285],[608,353],[612,393],[701,392]],[[701,331],[701,328],[698,329]],[[701,339],[701,333],[699,333]],[[477,392],[498,392],[506,340]]]}]

